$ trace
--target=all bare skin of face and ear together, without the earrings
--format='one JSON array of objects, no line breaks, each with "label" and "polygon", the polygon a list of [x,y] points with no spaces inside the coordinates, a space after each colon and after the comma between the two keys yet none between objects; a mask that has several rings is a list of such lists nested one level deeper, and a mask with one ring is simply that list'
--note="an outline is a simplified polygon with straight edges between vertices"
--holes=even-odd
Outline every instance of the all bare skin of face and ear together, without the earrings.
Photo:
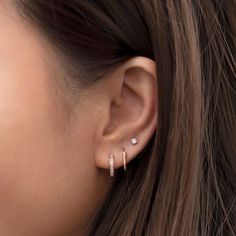
[{"label": "all bare skin of face and ear together, without the earrings", "polygon": [[129,162],[156,129],[154,61],[128,60],[80,92],[65,116],[68,94],[52,78],[50,51],[0,6],[0,235],[84,235],[113,181],[108,154],[122,168],[122,148]]}]

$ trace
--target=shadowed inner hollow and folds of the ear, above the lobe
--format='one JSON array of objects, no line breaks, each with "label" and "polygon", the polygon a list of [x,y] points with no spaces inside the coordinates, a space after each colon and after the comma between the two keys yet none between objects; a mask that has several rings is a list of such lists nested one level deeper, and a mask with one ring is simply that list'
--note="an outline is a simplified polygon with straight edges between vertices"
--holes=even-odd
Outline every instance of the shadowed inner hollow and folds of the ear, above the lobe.
[{"label": "shadowed inner hollow and folds of the ear, above the lobe", "polygon": [[133,126],[134,131],[135,126],[144,128],[155,112],[156,89],[156,79],[152,74],[140,67],[127,69],[120,89],[119,102],[113,100],[111,103],[110,122],[104,130],[104,135],[119,132],[122,127]]}]

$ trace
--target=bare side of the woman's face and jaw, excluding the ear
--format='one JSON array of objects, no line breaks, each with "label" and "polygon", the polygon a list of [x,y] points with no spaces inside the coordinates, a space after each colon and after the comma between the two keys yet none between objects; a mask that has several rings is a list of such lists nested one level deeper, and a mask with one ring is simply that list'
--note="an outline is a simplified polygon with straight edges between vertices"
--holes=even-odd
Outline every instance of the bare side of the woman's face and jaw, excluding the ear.
[{"label": "bare side of the woman's face and jaw, excluding the ear", "polygon": [[66,122],[47,47],[0,7],[0,235],[80,232],[108,187],[91,148],[99,112],[88,101]]}]

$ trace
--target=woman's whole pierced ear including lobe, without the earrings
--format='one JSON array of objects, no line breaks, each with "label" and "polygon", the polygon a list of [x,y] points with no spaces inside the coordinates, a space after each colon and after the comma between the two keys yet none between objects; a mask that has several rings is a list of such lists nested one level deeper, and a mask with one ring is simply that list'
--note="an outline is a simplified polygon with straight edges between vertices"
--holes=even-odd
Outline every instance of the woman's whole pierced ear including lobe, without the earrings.
[{"label": "woman's whole pierced ear including lobe, without the earrings", "polygon": [[[123,166],[122,149],[127,164],[148,144],[157,126],[156,64],[147,57],[133,57],[106,78],[103,120],[96,133],[95,163],[109,169],[109,154],[114,154],[114,168]],[[135,137],[136,145],[131,143]]]}]

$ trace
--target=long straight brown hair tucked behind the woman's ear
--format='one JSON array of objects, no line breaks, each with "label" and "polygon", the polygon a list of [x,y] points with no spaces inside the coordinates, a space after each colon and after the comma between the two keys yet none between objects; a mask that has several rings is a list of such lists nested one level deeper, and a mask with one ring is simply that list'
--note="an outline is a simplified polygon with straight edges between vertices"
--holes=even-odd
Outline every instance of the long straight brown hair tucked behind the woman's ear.
[{"label": "long straight brown hair tucked behind the woman's ear", "polygon": [[16,2],[71,83],[86,88],[134,56],[156,62],[156,133],[118,169],[88,235],[235,235],[235,1]]}]

